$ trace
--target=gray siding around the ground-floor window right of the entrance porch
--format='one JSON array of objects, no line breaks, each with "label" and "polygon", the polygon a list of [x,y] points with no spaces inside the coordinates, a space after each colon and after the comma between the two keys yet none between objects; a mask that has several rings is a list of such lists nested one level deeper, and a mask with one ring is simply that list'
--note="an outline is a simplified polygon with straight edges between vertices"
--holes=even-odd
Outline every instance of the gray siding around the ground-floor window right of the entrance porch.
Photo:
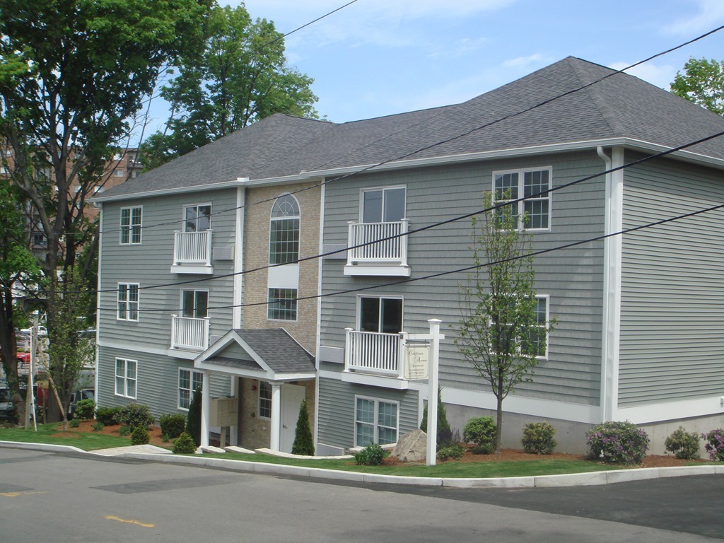
[{"label": "gray siding around the ground-floor window right of the entrance porch", "polygon": [[318,441],[335,447],[355,445],[355,395],[400,403],[398,435],[412,432],[418,426],[418,392],[379,389],[336,379],[319,379]]}]

